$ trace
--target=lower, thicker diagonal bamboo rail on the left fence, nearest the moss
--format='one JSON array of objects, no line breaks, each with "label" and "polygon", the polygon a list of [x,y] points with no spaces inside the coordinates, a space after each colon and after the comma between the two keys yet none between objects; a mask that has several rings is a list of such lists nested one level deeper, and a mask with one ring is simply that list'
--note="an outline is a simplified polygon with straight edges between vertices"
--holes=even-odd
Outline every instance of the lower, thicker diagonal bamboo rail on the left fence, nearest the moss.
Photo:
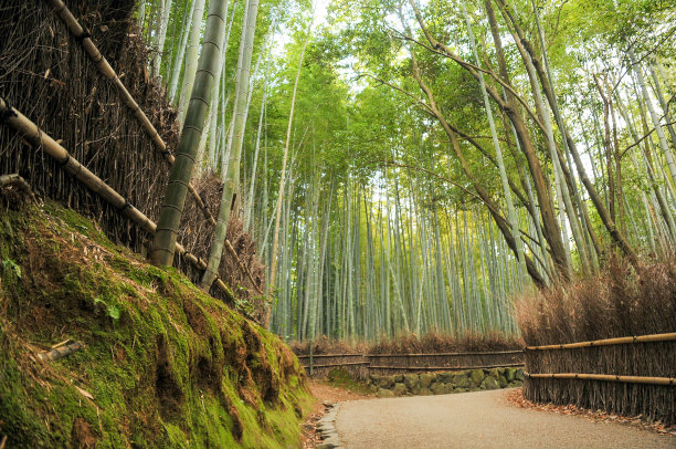
[{"label": "lower, thicker diagonal bamboo rail on the left fence, nearest the moss", "polygon": [[[155,233],[157,224],[155,224],[152,220],[146,217],[146,215],[136,207],[130,205],[125,197],[115,191],[115,189],[104,182],[99,177],[89,171],[87,167],[77,161],[77,159],[71,156],[71,154],[64,147],[40,129],[40,127],[38,127],[38,125],[31,122],[27,116],[13,107],[10,107],[2,97],[0,97],[0,117],[3,117],[4,123],[21,134],[35,148],[42,148],[47,156],[51,156],[59,161],[61,167],[66,173],[73,175],[89,190],[98,195],[106,202],[116,208],[144,230],[151,234]],[[198,269],[207,269],[207,263],[202,259],[187,251],[186,248],[178,242],[176,243],[176,252],[181,254]],[[223,291],[223,293],[225,293],[228,297],[233,299],[232,292],[221,279],[216,278],[214,283],[221,291]]]}]

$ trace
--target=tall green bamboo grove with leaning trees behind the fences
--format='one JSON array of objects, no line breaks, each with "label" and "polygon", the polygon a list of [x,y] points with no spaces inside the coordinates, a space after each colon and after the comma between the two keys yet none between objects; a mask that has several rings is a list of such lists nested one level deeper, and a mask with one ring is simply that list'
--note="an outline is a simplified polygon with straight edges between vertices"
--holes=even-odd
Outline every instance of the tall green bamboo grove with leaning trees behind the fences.
[{"label": "tall green bamboo grove with leaning trees behind the fences", "polygon": [[224,182],[202,286],[236,213],[286,338],[511,334],[520,292],[673,254],[672,1],[144,0],[137,20],[181,139],[200,128],[183,177]]}]

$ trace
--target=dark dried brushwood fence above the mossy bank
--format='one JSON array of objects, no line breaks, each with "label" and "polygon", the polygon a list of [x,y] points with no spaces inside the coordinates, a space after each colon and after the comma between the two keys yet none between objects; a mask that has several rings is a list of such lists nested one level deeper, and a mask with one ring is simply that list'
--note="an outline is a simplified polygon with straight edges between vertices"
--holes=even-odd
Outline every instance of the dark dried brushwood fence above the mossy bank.
[{"label": "dark dried brushwood fence above the mossy bank", "polygon": [[[0,96],[152,222],[178,124],[160,84],[148,79],[148,50],[134,25],[134,3],[0,0]],[[95,218],[118,243],[141,253],[149,246],[151,227],[129,221],[128,207],[120,213],[115,202],[84,187],[60,161],[27,146],[20,134],[1,124],[0,174],[18,174],[35,192]],[[220,188],[215,178],[198,180],[186,203],[179,241],[198,261],[209,252]],[[229,223],[228,240],[219,274],[225,284],[247,286],[239,295],[254,301],[264,271],[236,217]],[[201,275],[201,263],[190,257],[177,257],[176,264],[193,281]],[[211,293],[226,300],[221,290],[214,285]]]}]

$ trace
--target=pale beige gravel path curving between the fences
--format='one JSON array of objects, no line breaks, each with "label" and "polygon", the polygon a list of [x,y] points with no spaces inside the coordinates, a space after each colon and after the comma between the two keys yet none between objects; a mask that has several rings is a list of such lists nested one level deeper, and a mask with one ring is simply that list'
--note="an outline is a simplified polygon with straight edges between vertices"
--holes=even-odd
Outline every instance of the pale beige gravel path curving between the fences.
[{"label": "pale beige gravel path curving between the fences", "polygon": [[676,437],[616,422],[518,408],[507,390],[342,403],[347,449],[676,448]]}]

